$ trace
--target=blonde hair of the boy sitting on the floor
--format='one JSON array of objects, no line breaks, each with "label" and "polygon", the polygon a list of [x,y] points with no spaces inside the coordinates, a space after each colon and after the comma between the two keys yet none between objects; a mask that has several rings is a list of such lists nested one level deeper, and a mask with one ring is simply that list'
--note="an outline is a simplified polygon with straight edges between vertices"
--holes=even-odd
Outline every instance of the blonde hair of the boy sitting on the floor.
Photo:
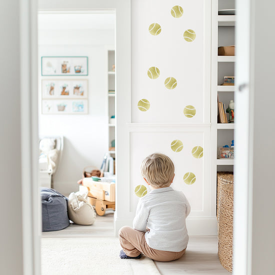
[{"label": "blonde hair of the boy sitting on the floor", "polygon": [[141,163],[141,175],[154,187],[169,185],[174,176],[174,164],[165,154],[152,153]]}]

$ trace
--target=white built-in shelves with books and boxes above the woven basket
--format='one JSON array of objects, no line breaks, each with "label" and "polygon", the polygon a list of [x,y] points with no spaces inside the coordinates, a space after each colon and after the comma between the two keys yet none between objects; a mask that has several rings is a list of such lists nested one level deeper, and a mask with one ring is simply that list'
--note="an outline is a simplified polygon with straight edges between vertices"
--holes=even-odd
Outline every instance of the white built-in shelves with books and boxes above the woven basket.
[{"label": "white built-in shelves with books and boxes above the woven basket", "polygon": [[[234,139],[234,123],[218,123],[217,97],[227,108],[234,99],[233,85],[221,85],[224,76],[234,76],[235,56],[217,54],[219,46],[234,45],[235,15],[218,15],[218,9],[235,8],[234,0],[211,0],[211,173],[216,178],[217,171],[233,171],[233,159],[219,159],[219,147],[231,145]],[[227,114],[228,119],[228,114]],[[213,183],[214,184],[214,183]]]}]

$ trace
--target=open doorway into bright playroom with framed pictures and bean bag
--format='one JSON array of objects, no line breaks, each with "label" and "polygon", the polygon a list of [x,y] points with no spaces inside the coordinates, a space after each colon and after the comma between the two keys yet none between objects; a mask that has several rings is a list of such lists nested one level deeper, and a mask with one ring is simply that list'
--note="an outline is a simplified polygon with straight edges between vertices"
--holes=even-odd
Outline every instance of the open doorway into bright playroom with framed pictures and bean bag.
[{"label": "open doorway into bright playroom with framed pictures and bean bag", "polygon": [[[115,182],[114,43],[114,10],[38,13],[40,186],[65,197],[87,192],[90,203],[91,175]],[[114,235],[114,185],[112,207],[96,210],[98,226],[70,222],[42,236],[94,234],[106,220],[105,232]]]}]

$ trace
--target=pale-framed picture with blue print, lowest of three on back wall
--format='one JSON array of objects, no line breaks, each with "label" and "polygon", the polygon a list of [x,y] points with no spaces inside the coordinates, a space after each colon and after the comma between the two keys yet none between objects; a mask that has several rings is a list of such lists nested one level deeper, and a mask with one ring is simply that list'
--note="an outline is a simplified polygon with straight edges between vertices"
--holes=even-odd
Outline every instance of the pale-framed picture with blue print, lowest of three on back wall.
[{"label": "pale-framed picture with blue print, lowest of three on back wall", "polygon": [[43,99],[42,114],[87,114],[87,99]]}]

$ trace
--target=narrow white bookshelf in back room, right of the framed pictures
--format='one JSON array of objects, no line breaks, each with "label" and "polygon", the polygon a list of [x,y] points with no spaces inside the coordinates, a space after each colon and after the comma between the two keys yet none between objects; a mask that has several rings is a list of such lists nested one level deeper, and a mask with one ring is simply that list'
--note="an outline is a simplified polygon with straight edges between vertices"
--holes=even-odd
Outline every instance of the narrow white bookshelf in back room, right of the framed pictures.
[{"label": "narrow white bookshelf in back room, right of the framed pictures", "polygon": [[110,149],[112,140],[115,138],[115,120],[110,121],[111,116],[115,115],[115,51],[113,48],[107,49],[107,77],[108,77],[108,154],[115,158],[115,150]]}]

